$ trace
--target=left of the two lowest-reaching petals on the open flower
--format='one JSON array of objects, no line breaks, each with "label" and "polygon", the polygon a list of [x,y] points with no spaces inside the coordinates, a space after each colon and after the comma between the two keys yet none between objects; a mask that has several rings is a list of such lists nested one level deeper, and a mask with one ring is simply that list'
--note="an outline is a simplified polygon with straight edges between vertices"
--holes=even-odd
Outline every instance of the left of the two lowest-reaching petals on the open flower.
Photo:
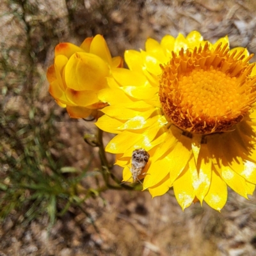
[{"label": "left of the two lowest-reaching petals on the open flower", "polygon": [[173,182],[174,195],[183,211],[192,204],[195,198],[195,189],[192,186],[192,178],[191,172],[188,171],[187,166],[178,179]]}]

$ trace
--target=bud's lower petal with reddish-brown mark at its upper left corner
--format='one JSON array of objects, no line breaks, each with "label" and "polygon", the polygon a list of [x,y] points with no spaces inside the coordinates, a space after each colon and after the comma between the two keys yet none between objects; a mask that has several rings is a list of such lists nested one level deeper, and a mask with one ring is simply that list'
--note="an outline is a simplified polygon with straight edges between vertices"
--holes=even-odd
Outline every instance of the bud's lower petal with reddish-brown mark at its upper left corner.
[{"label": "bud's lower petal with reddish-brown mark at its upper left corner", "polygon": [[86,107],[99,102],[97,94],[92,91],[75,91],[72,89],[66,90],[67,99],[77,106]]}]

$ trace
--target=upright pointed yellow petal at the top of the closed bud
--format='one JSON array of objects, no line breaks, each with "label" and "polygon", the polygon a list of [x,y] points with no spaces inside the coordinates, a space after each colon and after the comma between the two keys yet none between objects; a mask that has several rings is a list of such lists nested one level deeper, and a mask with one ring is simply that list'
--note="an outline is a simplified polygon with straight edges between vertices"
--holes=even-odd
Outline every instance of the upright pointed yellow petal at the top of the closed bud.
[{"label": "upright pointed yellow petal at the top of the closed bud", "polygon": [[102,60],[111,64],[111,54],[108,45],[102,35],[94,36],[92,44],[90,45],[90,53],[95,54],[102,58]]}]

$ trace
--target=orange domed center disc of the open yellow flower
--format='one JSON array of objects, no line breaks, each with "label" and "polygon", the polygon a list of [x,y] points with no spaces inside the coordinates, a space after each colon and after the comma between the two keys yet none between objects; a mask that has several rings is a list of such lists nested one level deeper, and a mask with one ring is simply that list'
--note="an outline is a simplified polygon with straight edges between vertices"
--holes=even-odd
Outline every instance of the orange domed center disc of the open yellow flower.
[{"label": "orange domed center disc of the open yellow flower", "polygon": [[243,120],[256,101],[253,64],[241,52],[221,48],[186,50],[164,67],[159,98],[167,120],[193,133],[209,134],[230,130]]}]

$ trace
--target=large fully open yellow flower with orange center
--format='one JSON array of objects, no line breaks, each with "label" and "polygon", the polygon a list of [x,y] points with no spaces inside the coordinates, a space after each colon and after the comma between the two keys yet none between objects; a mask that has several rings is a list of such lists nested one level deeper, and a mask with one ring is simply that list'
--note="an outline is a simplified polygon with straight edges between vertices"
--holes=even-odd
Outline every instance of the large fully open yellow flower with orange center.
[{"label": "large fully open yellow flower with orange center", "polygon": [[185,209],[205,201],[220,211],[228,187],[244,198],[256,184],[256,68],[243,47],[229,49],[197,31],[185,38],[149,38],[145,51],[126,51],[129,70],[116,68],[99,93],[109,106],[96,125],[116,133],[106,151],[131,179],[133,150],[150,159],[143,188],[161,196],[173,187]]}]

